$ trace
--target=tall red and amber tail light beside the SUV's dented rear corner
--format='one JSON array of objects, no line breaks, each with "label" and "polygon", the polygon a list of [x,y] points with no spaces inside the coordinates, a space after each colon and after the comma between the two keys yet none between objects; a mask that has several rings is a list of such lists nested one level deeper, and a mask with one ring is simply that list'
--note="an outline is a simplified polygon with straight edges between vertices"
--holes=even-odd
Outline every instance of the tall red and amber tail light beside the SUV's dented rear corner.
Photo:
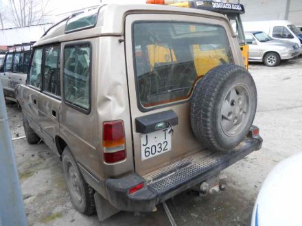
[{"label": "tall red and amber tail light beside the SUV's dented rear corner", "polygon": [[121,120],[104,122],[103,152],[106,163],[116,163],[126,159],[124,124]]}]

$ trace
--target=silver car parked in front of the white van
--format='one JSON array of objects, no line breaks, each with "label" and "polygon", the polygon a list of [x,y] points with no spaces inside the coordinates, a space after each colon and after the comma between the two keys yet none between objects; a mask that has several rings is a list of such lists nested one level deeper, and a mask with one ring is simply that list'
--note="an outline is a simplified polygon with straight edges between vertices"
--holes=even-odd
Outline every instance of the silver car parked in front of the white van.
[{"label": "silver car parked in front of the white van", "polygon": [[296,58],[301,53],[297,43],[272,39],[264,32],[245,32],[244,35],[248,44],[248,61],[264,62],[274,67],[281,60]]}]

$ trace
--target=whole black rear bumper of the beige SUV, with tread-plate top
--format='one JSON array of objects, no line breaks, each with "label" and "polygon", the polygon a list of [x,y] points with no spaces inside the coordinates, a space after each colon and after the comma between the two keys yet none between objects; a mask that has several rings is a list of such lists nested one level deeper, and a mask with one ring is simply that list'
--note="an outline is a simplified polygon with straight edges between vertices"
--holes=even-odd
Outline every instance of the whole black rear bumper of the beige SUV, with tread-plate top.
[{"label": "whole black rear bumper of the beige SUV, with tread-plate top", "polygon": [[[230,152],[200,152],[183,161],[182,166],[153,178],[133,173],[121,179],[108,179],[108,201],[118,210],[152,212],[156,205],[192,186],[205,181],[262,146],[262,138],[249,137]],[[129,189],[144,183],[141,190],[129,194]]]}]

